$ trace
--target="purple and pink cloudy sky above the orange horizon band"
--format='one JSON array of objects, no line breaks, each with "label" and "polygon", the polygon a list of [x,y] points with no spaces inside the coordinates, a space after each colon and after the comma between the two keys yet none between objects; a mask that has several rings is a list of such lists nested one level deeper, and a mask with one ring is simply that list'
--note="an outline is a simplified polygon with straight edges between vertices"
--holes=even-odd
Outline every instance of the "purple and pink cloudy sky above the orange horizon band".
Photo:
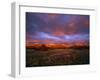
[{"label": "purple and pink cloudy sky above the orange horizon band", "polygon": [[89,41],[89,15],[26,12],[26,44]]}]

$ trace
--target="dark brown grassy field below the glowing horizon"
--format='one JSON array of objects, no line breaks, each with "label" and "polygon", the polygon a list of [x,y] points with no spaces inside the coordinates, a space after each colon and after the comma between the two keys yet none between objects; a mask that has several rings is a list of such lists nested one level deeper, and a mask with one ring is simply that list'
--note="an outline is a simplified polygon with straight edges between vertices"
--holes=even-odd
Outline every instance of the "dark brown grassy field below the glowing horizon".
[{"label": "dark brown grassy field below the glowing horizon", "polygon": [[26,67],[89,64],[89,49],[26,49]]}]

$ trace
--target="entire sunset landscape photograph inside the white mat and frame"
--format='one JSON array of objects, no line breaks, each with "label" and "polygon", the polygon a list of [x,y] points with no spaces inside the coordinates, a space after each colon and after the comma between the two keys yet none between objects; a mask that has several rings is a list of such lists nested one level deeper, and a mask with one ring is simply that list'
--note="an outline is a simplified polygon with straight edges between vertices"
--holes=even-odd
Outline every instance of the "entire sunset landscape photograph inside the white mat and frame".
[{"label": "entire sunset landscape photograph inside the white mat and frame", "polygon": [[89,15],[26,12],[26,67],[90,63]]}]

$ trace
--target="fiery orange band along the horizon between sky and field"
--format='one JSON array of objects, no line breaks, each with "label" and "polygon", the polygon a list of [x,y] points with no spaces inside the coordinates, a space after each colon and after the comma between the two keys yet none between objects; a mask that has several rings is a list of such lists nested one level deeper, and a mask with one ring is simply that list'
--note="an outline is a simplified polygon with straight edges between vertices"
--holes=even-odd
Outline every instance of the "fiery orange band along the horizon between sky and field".
[{"label": "fiery orange band along the horizon between sky and field", "polygon": [[31,46],[26,46],[29,49],[35,50],[48,50],[48,49],[66,49],[66,48],[73,48],[73,49],[82,49],[82,48],[89,48],[88,44],[32,44]]}]

